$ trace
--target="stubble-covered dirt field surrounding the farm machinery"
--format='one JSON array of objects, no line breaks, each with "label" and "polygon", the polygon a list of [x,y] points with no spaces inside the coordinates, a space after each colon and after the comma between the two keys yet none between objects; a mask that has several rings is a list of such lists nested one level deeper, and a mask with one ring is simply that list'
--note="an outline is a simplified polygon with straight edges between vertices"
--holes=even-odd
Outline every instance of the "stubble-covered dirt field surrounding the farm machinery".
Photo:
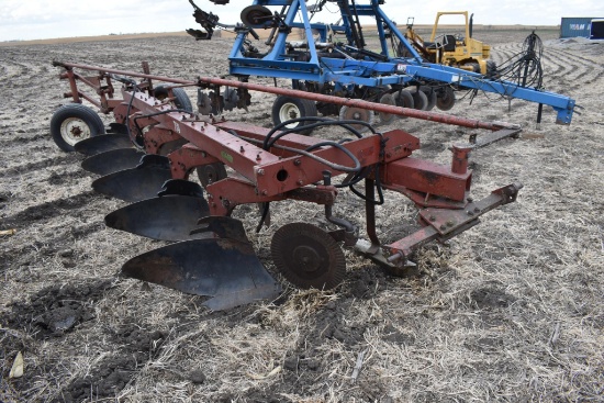
[{"label": "stubble-covered dirt field surrounding the farm machinery", "polygon": [[[480,37],[501,64],[528,33]],[[523,138],[471,157],[473,195],[519,181],[516,203],[423,248],[417,277],[389,277],[346,251],[348,276],[335,291],[284,283],[278,301],[226,312],[119,277],[125,260],[164,243],[104,226],[124,203],[91,190],[94,176],[79,167],[80,155],[55,146],[48,123],[67,91],[52,60],[137,71],[148,60],[154,74],[193,79],[224,74],[231,42],[2,46],[0,230],[15,233],[0,236],[0,401],[604,402],[604,45],[537,33],[547,89],[583,107],[570,126],[556,125],[546,108],[537,130],[536,104],[508,107],[495,96],[450,111],[524,127]],[[249,112],[226,116],[269,126],[271,103],[254,94]],[[392,127],[417,135],[417,155],[444,164],[447,147],[472,133],[410,119]],[[269,271],[275,231],[323,216],[306,204],[271,211],[271,227],[249,231]],[[349,192],[334,212],[362,225],[362,202]],[[254,209],[235,216],[248,230],[258,221]],[[387,193],[378,235],[395,240],[414,221],[412,204]],[[24,374],[9,378],[20,351]]]}]

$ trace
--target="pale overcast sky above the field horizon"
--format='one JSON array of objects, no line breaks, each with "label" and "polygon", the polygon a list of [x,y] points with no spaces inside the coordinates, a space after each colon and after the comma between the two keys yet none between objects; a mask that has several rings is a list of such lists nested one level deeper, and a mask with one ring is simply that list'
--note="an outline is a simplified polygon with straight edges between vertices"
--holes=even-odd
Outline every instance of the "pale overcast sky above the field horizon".
[{"label": "pale overcast sky above the field horizon", "polygon": [[[233,24],[241,21],[241,10],[253,1],[231,0],[227,5],[209,0],[195,3],[217,14],[220,22]],[[327,4],[336,9],[335,4]],[[443,0],[387,0],[383,8],[398,23],[413,16],[416,24],[432,24],[437,11],[466,10],[474,13],[476,24],[491,25],[558,25],[562,16],[604,18],[603,0],[574,0],[572,4],[535,0],[459,0],[455,4]],[[192,11],[188,0],[0,0],[0,41],[184,31],[199,27]]]}]

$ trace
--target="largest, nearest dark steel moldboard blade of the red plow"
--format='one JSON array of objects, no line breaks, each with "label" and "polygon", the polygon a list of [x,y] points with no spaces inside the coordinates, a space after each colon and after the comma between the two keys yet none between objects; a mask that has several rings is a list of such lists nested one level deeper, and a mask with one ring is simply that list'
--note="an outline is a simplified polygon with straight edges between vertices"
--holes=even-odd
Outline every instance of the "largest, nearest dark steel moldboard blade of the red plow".
[{"label": "largest, nearest dark steel moldboard blade of the red plow", "polygon": [[255,300],[275,299],[281,287],[265,269],[249,243],[194,239],[136,256],[122,273],[195,295],[220,311]]}]

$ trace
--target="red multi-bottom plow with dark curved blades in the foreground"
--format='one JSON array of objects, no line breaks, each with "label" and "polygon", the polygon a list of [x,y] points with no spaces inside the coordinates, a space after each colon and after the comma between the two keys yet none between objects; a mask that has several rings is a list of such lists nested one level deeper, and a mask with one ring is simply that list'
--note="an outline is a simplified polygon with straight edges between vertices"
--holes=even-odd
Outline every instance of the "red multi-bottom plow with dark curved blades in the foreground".
[{"label": "red multi-bottom plow with dark curved blades in the foreground", "polygon": [[[272,299],[281,290],[256,256],[243,223],[231,216],[239,205],[260,206],[257,231],[266,223],[270,202],[295,200],[322,206],[327,230],[306,222],[288,223],[275,232],[270,253],[276,270],[292,284],[332,289],[346,277],[343,247],[404,273],[413,266],[409,258],[420,246],[459,235],[478,224],[482,214],[514,202],[522,188],[508,184],[482,200],[470,197],[470,152],[519,132],[517,126],[236,80],[158,77],[148,72],[146,64],[143,74],[54,65],[64,69],[61,77],[70,86],[65,96],[75,101],[53,116],[52,125],[59,133],[67,132],[72,138],[86,132],[96,134],[98,116],[82,112],[82,99],[111,112],[115,120],[108,134],[72,145],[88,155],[82,167],[102,175],[92,183],[97,191],[131,202],[108,214],[107,225],[170,242],[130,259],[122,267],[123,275],[210,296],[204,304],[212,310]],[[94,75],[86,77],[76,70]],[[121,98],[115,81],[122,83]],[[154,81],[170,85],[154,87]],[[92,87],[100,101],[78,83]],[[271,92],[491,133],[476,144],[454,145],[450,166],[443,166],[414,158],[420,139],[402,130],[380,133],[362,121],[312,116],[284,121],[270,130],[230,122],[193,113],[179,86],[214,90],[230,86],[242,96],[249,90]],[[292,125],[301,120],[304,126]],[[346,138],[334,142],[299,133],[331,126],[344,130]],[[361,134],[360,128],[367,132]],[[189,180],[194,171],[201,186]],[[359,223],[337,214],[336,201],[346,188],[365,202],[367,240],[360,236]],[[376,206],[389,191],[413,201],[421,230],[382,244],[376,230]]]}]

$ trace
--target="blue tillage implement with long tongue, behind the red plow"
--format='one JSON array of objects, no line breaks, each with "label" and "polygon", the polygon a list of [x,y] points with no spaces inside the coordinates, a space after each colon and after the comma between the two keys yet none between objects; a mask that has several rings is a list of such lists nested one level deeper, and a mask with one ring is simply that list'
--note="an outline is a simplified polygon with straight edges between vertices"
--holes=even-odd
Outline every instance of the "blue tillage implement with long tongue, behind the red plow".
[{"label": "blue tillage implement with long tongue, behind the red plow", "polygon": [[[211,1],[215,4],[228,3],[227,0]],[[455,103],[452,90],[473,90],[508,100],[538,103],[537,123],[541,121],[543,105],[550,105],[556,111],[558,124],[570,124],[572,120],[574,100],[527,86],[521,77],[513,82],[496,76],[488,77],[467,69],[426,63],[382,10],[383,0],[367,0],[365,3],[323,0],[312,8],[302,0],[254,0],[242,11],[243,24],[234,25],[220,23],[217,15],[201,10],[192,0],[189,2],[194,8],[195,21],[204,29],[188,30],[198,40],[211,40],[215,27],[237,34],[228,56],[228,67],[230,74],[243,81],[254,76],[291,79],[294,89],[423,110],[429,110],[435,104],[448,110]],[[340,22],[312,22],[327,3],[337,7]],[[363,16],[374,20],[379,51],[367,47],[362,33],[367,27],[359,22]],[[258,30],[270,30],[265,42],[267,52],[259,51],[255,45],[260,41]],[[299,32],[302,38],[292,38]],[[344,35],[345,42],[337,42],[337,34]],[[518,75],[523,74],[527,71],[519,71]],[[412,93],[401,92],[403,89],[411,89]],[[227,99],[228,96],[221,97]],[[215,107],[220,107],[219,103]],[[279,105],[278,99],[273,108]],[[336,114],[347,119],[355,112],[361,114],[350,112],[348,107],[333,107],[333,103],[316,104],[323,115]],[[298,112],[301,115],[316,115],[312,108],[310,111],[301,108]],[[371,122],[371,115],[365,116]],[[273,122],[280,123],[279,113],[275,111]]]}]

